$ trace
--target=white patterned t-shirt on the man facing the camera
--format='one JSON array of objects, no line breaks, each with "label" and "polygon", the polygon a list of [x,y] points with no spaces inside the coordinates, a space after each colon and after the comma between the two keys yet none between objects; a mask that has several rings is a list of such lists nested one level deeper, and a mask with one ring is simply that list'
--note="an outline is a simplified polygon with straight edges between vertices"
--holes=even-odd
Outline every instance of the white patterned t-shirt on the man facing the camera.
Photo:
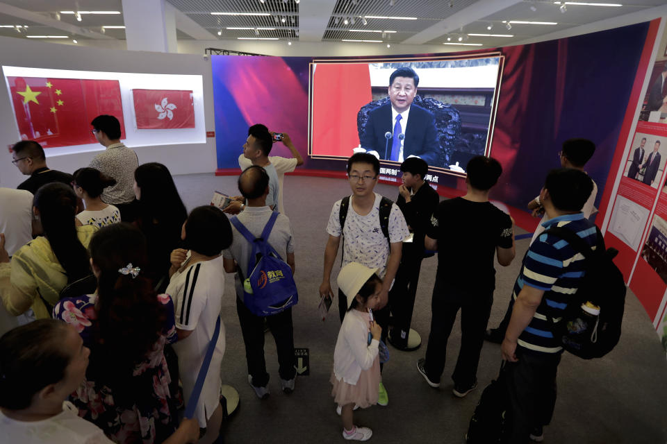
[{"label": "white patterned t-shirt on the man facing the camera", "polygon": [[[389,243],[384,237],[380,226],[380,200],[382,196],[375,193],[373,209],[365,216],[360,216],[354,211],[352,198],[347,207],[347,217],[343,228],[343,265],[350,262],[359,262],[370,268],[378,268],[377,274],[384,277],[387,261],[389,259]],[[340,237],[340,203],[334,203],[329,216],[327,232],[331,236]],[[409,236],[408,225],[403,213],[395,203],[391,205],[389,213],[389,241],[402,242]]]}]

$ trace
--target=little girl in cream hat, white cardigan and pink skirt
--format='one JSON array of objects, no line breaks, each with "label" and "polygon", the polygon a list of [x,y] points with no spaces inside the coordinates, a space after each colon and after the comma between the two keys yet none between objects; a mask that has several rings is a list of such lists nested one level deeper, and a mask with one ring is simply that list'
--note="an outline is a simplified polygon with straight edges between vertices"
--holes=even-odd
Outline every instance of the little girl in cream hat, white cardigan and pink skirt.
[{"label": "little girl in cream hat, white cardigan and pink skirt", "polygon": [[[368,268],[351,262],[340,269],[338,288],[347,296],[347,314],[340,325],[336,350],[331,395],[341,410],[343,438],[368,441],[372,431],[356,427],[352,410],[365,409],[377,403],[380,383],[378,345],[382,329],[371,321],[368,309],[379,305],[382,281],[375,274],[377,268]],[[368,332],[372,340],[368,341]]]}]

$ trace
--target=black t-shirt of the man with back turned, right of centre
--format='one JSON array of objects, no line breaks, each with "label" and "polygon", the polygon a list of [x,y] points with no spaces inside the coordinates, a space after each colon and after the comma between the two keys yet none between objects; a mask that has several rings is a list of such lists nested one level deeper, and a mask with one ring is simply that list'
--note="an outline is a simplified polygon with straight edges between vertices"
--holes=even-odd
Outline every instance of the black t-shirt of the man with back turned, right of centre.
[{"label": "black t-shirt of the man with back turned, right of centre", "polygon": [[511,248],[512,221],[490,202],[464,198],[438,204],[427,230],[438,241],[436,285],[458,291],[493,291],[495,248]]}]

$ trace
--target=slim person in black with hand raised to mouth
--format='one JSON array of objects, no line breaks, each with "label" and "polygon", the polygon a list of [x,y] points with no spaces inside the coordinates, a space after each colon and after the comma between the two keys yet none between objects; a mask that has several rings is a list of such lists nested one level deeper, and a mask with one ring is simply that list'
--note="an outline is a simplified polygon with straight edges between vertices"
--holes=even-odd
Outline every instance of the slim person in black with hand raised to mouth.
[{"label": "slim person in black with hand raised to mouth", "polygon": [[403,243],[401,264],[389,293],[389,305],[394,318],[389,341],[400,350],[409,350],[410,323],[424,259],[424,237],[431,224],[431,214],[440,201],[436,190],[424,180],[428,170],[429,165],[419,157],[410,157],[401,164],[403,185],[399,187],[396,204],[405,216],[413,240]]}]

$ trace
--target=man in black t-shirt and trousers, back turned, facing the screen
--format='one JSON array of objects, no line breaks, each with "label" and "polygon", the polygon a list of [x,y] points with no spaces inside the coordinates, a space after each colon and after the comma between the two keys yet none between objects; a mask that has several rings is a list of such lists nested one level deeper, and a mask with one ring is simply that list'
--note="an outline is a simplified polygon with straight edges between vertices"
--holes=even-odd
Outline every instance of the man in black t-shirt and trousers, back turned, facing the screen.
[{"label": "man in black t-shirt and trousers, back turned, facing the screen", "polygon": [[461,309],[461,350],[452,379],[453,393],[466,396],[477,386],[477,364],[484,330],[493,304],[493,255],[502,266],[515,255],[514,222],[488,201],[502,167],[491,157],[468,162],[465,196],[438,205],[425,238],[426,248],[438,250],[438,271],[431,302],[431,332],[426,358],[417,368],[431,387],[440,386],[447,339]]}]

